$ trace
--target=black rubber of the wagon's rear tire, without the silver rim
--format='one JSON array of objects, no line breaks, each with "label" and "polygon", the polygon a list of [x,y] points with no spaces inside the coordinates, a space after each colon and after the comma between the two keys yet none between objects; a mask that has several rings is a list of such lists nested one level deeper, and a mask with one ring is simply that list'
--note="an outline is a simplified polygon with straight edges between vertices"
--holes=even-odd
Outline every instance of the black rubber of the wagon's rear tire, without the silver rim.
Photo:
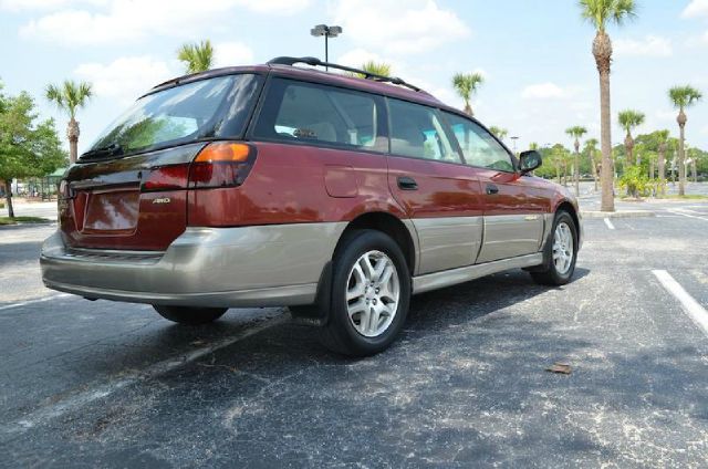
[{"label": "black rubber of the wagon's rear tire, without the silver rim", "polygon": [[[354,327],[346,301],[350,272],[354,263],[369,251],[383,252],[391,259],[399,286],[393,321],[385,331],[373,337],[362,335]],[[381,231],[356,230],[348,233],[334,253],[331,298],[329,321],[320,327],[320,340],[325,347],[348,356],[369,356],[386,350],[403,329],[410,303],[410,271],[398,244]]]}]

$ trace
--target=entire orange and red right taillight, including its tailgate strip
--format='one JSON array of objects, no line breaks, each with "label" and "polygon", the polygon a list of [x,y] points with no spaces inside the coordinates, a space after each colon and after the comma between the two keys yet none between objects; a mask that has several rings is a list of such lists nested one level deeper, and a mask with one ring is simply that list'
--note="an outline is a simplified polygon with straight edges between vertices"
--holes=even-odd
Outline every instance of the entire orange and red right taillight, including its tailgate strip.
[{"label": "entire orange and red right taillight, including its tailgate strip", "polygon": [[140,185],[143,192],[240,186],[253,166],[256,148],[233,142],[215,142],[189,164],[153,168]]}]

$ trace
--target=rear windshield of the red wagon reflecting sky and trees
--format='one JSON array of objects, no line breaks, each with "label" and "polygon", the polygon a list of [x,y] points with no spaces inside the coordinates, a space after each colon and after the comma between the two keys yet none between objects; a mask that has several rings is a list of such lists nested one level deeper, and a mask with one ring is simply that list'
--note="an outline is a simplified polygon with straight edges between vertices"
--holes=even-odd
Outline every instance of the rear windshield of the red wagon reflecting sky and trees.
[{"label": "rear windshield of the red wagon reflecting sky and trees", "polygon": [[254,74],[187,83],[139,98],[82,158],[127,155],[204,138],[241,138],[262,82]]}]

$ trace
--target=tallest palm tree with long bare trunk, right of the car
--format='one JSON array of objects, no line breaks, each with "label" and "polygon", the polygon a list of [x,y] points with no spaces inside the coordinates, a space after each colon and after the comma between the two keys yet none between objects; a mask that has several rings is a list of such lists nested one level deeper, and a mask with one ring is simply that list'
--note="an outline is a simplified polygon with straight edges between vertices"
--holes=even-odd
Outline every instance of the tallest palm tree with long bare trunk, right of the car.
[{"label": "tallest palm tree with long bare trunk, right of the car", "polygon": [[610,106],[610,69],[612,41],[607,35],[608,23],[622,25],[627,18],[636,15],[634,0],[580,0],[581,15],[596,30],[593,55],[600,74],[600,124],[602,142],[602,211],[614,211],[612,164],[612,118]]}]

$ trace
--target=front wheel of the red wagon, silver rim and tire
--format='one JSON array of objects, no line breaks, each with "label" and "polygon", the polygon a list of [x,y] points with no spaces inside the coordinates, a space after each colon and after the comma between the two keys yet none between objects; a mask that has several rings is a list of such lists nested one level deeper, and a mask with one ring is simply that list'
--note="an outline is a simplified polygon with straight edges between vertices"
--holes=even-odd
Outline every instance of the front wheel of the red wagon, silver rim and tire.
[{"label": "front wheel of the red wagon, silver rim and tire", "polygon": [[[572,247],[566,246],[566,242],[560,242],[556,239],[558,236],[563,238],[563,234],[559,232],[559,227],[565,226],[568,231],[565,231],[565,237],[570,236],[572,240]],[[563,228],[560,229],[561,232],[564,231]],[[568,238],[566,238],[568,239]],[[562,241],[562,239],[560,240]],[[561,256],[563,261],[558,261],[554,259],[554,256],[560,252],[564,253]],[[568,254],[572,256],[570,259],[570,263],[565,265],[565,259]],[[553,219],[553,228],[551,233],[549,234],[549,239],[545,242],[544,256],[545,263],[541,270],[531,271],[531,278],[542,285],[564,285],[571,281],[573,278],[573,273],[575,272],[575,261],[577,259],[577,227],[575,226],[575,220],[573,217],[565,211],[561,210],[555,213],[555,218]],[[560,265],[560,267],[559,267]]]}]

